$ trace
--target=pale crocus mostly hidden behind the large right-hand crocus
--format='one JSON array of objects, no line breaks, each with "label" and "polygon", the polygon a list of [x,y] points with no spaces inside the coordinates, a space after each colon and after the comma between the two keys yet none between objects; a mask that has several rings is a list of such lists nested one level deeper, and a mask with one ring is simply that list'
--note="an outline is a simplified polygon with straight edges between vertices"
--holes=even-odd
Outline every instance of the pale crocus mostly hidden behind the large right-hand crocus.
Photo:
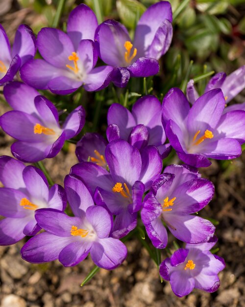
[{"label": "pale crocus mostly hidden behind the large right-hand crocus", "polygon": [[[204,93],[215,88],[221,88],[226,103],[230,102],[245,88],[245,65],[241,66],[227,77],[223,72],[216,74],[208,82]],[[187,99],[192,104],[199,98],[194,86],[194,80],[192,79],[187,84],[186,95]],[[245,109],[244,105],[243,108]]]}]

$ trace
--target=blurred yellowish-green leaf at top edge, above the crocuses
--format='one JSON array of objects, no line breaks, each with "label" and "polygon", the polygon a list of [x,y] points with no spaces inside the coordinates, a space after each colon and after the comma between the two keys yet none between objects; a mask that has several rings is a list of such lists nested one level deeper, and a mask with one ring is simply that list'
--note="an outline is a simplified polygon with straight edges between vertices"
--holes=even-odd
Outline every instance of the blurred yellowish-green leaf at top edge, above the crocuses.
[{"label": "blurred yellowish-green leaf at top edge, above the crocuses", "polygon": [[124,26],[134,29],[146,7],[136,0],[117,0],[117,11]]}]

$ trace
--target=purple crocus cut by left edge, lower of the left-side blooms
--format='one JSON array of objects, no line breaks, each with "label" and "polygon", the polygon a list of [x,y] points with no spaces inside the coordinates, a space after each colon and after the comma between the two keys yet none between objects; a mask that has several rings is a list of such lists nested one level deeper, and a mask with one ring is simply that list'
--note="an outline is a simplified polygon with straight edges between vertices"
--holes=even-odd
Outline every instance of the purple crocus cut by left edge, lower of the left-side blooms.
[{"label": "purple crocus cut by left edge, lower of the left-side blooms", "polygon": [[35,212],[41,208],[65,210],[64,189],[49,184],[43,172],[34,166],[25,166],[9,156],[0,157],[0,245],[11,245],[26,235],[41,230]]}]

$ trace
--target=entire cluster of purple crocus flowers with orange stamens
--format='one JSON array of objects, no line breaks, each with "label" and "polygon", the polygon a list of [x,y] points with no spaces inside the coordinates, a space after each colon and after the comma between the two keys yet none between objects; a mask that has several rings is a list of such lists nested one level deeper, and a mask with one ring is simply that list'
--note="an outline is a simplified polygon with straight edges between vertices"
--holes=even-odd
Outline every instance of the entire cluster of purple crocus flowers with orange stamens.
[{"label": "entire cluster of purple crocus flowers with orange stamens", "polygon": [[[129,77],[155,75],[172,40],[171,22],[170,3],[155,3],[141,16],[132,41],[122,24],[107,20],[98,25],[94,12],[80,4],[69,16],[67,33],[53,28],[38,33],[43,59],[33,58],[36,42],[29,27],[18,28],[12,53],[0,27],[0,84],[13,108],[0,116],[0,126],[17,140],[11,152],[18,159],[0,157],[0,214],[5,217],[0,245],[32,236],[21,250],[26,261],[58,259],[74,266],[90,254],[98,267],[112,270],[127,255],[121,239],[141,216],[156,249],[166,248],[167,229],[186,243],[160,265],[160,275],[177,296],[194,287],[218,289],[224,262],[210,252],[217,242],[215,227],[196,216],[212,199],[214,185],[197,168],[208,167],[209,158],[241,154],[244,104],[226,107],[226,102],[245,87],[244,67],[228,77],[213,77],[200,97],[191,80],[187,98],[172,88],[162,103],[147,95],[131,111],[113,103],[107,140],[98,133],[82,136],[75,151],[79,163],[65,177],[64,188],[49,186],[39,168],[23,163],[54,157],[85,124],[82,106],[61,124],[55,105],[37,89],[67,95],[80,86],[98,91],[111,81],[124,87]],[[107,65],[96,67],[98,57]],[[12,81],[19,69],[26,84]],[[184,164],[162,170],[172,148]]]}]

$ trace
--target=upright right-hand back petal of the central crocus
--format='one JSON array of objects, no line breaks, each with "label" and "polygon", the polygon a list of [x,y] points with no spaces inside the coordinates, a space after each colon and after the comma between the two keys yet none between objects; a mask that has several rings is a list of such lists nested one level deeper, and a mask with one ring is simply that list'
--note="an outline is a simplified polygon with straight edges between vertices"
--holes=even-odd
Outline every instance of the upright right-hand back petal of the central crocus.
[{"label": "upright right-hand back petal of the central crocus", "polygon": [[145,184],[146,191],[150,188],[152,182],[160,175],[163,164],[162,158],[155,146],[147,146],[141,153],[142,169],[140,181]]}]

